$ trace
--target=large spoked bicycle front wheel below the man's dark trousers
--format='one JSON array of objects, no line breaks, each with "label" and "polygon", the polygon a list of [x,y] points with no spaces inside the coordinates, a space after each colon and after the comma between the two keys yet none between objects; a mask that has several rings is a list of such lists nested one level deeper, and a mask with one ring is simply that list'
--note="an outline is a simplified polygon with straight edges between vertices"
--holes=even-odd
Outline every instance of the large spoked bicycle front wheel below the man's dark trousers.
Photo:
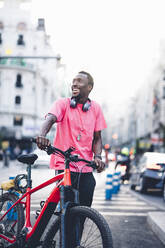
[{"label": "large spoked bicycle front wheel below the man's dark trousers", "polygon": [[[69,219],[67,223],[67,235],[72,241],[67,242],[68,248],[113,248],[112,235],[110,228],[96,210],[85,207],[76,206],[70,209]],[[74,240],[77,226],[79,228],[79,239]],[[71,243],[70,243],[71,242]],[[70,245],[69,245],[70,243]],[[42,244],[43,248],[60,248],[60,218],[56,218],[45,235]]]}]

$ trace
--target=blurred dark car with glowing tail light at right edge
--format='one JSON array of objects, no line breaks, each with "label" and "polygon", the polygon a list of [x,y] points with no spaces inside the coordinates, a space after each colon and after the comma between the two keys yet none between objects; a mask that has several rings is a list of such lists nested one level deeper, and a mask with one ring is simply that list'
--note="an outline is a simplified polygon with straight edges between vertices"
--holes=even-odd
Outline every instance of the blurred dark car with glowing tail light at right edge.
[{"label": "blurred dark car with glowing tail light at right edge", "polygon": [[137,164],[132,164],[130,169],[130,187],[139,186],[141,193],[148,189],[162,190],[163,169],[157,163],[165,162],[165,153],[145,152]]}]

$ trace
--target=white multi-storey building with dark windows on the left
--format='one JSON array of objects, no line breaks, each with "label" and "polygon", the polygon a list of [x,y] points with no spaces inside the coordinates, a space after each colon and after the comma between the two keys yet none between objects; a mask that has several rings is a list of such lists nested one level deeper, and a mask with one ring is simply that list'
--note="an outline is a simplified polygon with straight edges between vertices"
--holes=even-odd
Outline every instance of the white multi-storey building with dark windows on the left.
[{"label": "white multi-storey building with dark windows on the left", "polygon": [[30,10],[22,9],[30,0],[0,2],[4,4],[0,9],[0,139],[8,139],[11,149],[17,143],[28,150],[27,138],[38,134],[57,97],[58,69],[65,67],[49,44],[44,19],[34,26]]}]

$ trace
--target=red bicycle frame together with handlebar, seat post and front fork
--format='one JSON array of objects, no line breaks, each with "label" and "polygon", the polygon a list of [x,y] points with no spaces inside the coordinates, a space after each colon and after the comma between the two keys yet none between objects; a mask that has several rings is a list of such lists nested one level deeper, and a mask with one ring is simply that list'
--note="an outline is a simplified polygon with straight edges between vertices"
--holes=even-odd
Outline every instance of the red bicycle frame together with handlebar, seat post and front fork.
[{"label": "red bicycle frame together with handlebar, seat post and front fork", "polygon": [[[74,150],[73,147],[70,147],[67,151],[63,152],[60,149],[54,148],[52,146],[47,147],[49,150],[46,150],[48,154],[52,154],[57,151],[57,153],[61,153],[65,157],[65,170],[64,173],[58,174],[52,179],[40,184],[39,186],[32,188],[32,181],[31,181],[31,164],[28,164],[28,178],[27,178],[27,190],[24,195],[22,195],[6,212],[5,214],[0,218],[0,221],[3,220],[3,218],[7,215],[7,213],[14,208],[17,204],[21,203],[24,204],[26,207],[26,220],[25,225],[22,228],[21,231],[21,237],[23,238],[27,244],[27,247],[36,247],[36,245],[39,244],[40,238],[43,234],[43,232],[46,229],[46,226],[51,218],[51,216],[54,214],[54,210],[58,204],[59,201],[61,201],[61,213],[60,213],[60,220],[61,220],[61,228],[60,228],[60,236],[61,236],[61,247],[66,248],[68,247],[68,240],[67,240],[67,230],[66,230],[66,223],[67,223],[67,214],[68,210],[78,205],[78,192],[75,189],[72,189],[71,186],[71,174],[70,174],[70,167],[69,164],[71,161],[73,162],[79,162],[84,161],[86,163],[90,163],[90,161],[85,159],[79,159],[77,155],[71,155],[71,152]],[[32,158],[31,161],[33,161],[34,158]],[[30,161],[30,160],[20,160],[20,162],[24,161]],[[35,160],[34,160],[35,161]],[[92,164],[90,164],[92,167]],[[96,167],[94,167],[96,168]],[[41,209],[41,212],[32,227],[31,221],[30,221],[30,204],[31,204],[31,194],[34,192],[45,188],[46,186],[58,182],[58,184],[54,187],[52,192],[50,193],[49,197],[44,203],[43,208]],[[74,193],[74,200],[70,198],[70,196],[65,199],[65,189],[70,190]],[[26,197],[26,201],[23,202],[22,200]],[[77,233],[79,230],[77,229]],[[11,245],[9,247],[17,247],[17,237],[8,238],[5,235],[0,234],[0,238],[5,239],[8,241]],[[19,242],[19,240],[18,240]],[[14,244],[13,244],[14,243]]]}]

